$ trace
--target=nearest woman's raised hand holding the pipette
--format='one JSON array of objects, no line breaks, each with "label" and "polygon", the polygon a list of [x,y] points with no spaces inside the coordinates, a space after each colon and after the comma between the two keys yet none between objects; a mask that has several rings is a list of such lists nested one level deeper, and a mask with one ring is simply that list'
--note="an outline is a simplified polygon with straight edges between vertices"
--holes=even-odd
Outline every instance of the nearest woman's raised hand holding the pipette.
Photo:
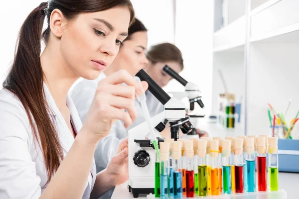
[{"label": "nearest woman's raised hand holding the pipette", "polygon": [[125,70],[99,82],[82,127],[92,140],[98,142],[107,136],[116,119],[123,120],[126,128],[132,124],[138,116],[134,103],[136,95],[141,95],[148,89],[148,84],[142,83],[143,86]]}]

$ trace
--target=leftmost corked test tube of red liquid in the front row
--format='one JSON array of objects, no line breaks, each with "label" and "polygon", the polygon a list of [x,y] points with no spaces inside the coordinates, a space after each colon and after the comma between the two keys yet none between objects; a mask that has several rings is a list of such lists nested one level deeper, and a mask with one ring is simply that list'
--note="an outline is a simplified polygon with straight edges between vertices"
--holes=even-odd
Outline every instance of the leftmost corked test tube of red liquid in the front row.
[{"label": "leftmost corked test tube of red liquid in the front row", "polygon": [[188,140],[184,144],[186,154],[186,196],[187,198],[195,198],[193,141]]}]

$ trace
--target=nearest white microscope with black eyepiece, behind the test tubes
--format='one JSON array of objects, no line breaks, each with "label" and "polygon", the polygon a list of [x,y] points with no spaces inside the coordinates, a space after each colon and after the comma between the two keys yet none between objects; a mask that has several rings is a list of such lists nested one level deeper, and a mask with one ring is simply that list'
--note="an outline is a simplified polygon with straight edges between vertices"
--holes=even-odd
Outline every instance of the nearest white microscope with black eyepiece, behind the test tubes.
[{"label": "nearest white microscope with black eyepiece, behind the test tubes", "polygon": [[[149,84],[149,92],[164,105],[164,110],[151,118],[155,130],[162,131],[167,119],[171,124],[171,138],[178,139],[179,129],[190,132],[192,124],[186,117],[185,105],[182,101],[170,98],[150,77],[141,69],[137,74],[141,81]],[[149,133],[147,121],[129,130],[129,192],[134,198],[139,194],[154,194],[155,151],[152,141],[145,139]],[[158,142],[163,141],[158,138]]]}]

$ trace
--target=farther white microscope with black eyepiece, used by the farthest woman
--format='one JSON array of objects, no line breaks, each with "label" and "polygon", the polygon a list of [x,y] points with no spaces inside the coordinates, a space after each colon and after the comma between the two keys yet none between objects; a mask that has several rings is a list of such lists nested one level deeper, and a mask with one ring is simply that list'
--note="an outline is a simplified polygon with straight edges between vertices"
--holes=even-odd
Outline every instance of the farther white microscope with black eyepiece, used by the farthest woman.
[{"label": "farther white microscope with black eyepiece, used by the farthest woman", "polygon": [[190,121],[193,124],[194,128],[191,132],[186,134],[186,137],[198,137],[195,129],[197,119],[205,116],[192,114],[192,110],[194,110],[196,102],[201,108],[204,108],[204,104],[201,100],[201,92],[199,91],[199,87],[193,84],[192,82],[187,82],[184,78],[182,78],[179,74],[177,74],[173,69],[171,69],[167,65],[163,67],[163,71],[185,87],[184,92],[170,92],[170,94],[172,94],[173,97],[177,100],[182,100],[186,97],[189,99],[191,113],[188,113],[188,116],[190,117]]}]

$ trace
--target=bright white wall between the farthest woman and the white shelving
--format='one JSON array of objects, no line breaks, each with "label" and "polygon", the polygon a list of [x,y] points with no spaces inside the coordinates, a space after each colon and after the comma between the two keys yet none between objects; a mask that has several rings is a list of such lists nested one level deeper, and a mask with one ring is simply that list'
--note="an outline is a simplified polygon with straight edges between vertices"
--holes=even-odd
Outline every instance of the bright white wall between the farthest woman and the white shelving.
[{"label": "bright white wall between the farthest woman and the white shelving", "polygon": [[[212,108],[212,48],[213,0],[177,0],[175,44],[182,51],[185,68],[181,73],[187,81],[197,84],[205,104],[203,111]],[[167,89],[180,89],[177,82]],[[198,106],[199,107],[199,106]]]}]

